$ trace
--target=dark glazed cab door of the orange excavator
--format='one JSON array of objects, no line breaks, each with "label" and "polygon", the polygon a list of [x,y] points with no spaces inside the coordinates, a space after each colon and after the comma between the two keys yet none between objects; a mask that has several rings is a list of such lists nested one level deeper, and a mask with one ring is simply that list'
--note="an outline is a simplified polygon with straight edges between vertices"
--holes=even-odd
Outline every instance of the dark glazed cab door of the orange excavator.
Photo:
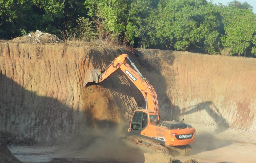
[{"label": "dark glazed cab door of the orange excavator", "polygon": [[[141,111],[135,111],[131,120],[131,132],[135,135],[140,135],[148,125],[147,114]],[[147,136],[147,132],[143,131],[143,135]]]}]

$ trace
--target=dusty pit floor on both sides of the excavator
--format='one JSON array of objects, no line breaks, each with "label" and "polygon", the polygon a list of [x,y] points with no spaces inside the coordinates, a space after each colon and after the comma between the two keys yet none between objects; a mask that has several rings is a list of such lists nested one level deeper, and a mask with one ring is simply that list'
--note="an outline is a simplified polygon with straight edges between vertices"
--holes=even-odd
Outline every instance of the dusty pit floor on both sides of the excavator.
[{"label": "dusty pit floor on both sides of the excavator", "polygon": [[[180,163],[190,159],[195,159],[203,163],[253,163],[256,161],[255,133],[235,131],[232,129],[219,133],[214,129],[198,126],[196,141],[191,146],[193,148],[193,154],[191,156],[179,156],[177,152],[171,150],[170,154],[176,159],[175,162]],[[70,162],[144,162],[143,153],[148,152],[147,149],[124,144],[120,145],[119,148],[117,147],[117,150],[120,152],[115,157],[113,156],[113,152],[110,154],[107,150],[92,154],[87,149],[73,150],[59,146],[10,146],[9,149],[15,157],[26,163],[59,162],[61,159],[65,161],[69,160]],[[109,157],[107,157],[108,154]]]}]

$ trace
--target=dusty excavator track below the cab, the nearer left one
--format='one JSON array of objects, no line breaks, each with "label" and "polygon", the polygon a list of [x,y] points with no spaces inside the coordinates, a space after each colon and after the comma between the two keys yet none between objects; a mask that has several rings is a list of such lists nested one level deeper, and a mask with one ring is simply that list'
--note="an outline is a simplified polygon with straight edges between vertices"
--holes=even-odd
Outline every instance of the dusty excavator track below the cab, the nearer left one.
[{"label": "dusty excavator track below the cab, the nearer left one", "polygon": [[153,149],[155,152],[160,152],[160,153],[166,153],[169,154],[169,150],[167,147],[162,146],[154,141],[148,140],[148,139],[144,139],[141,137],[133,137],[133,136],[126,136],[124,137],[126,139],[132,140],[134,141],[136,144],[140,144],[140,145],[145,145],[147,147],[150,147],[151,149]]}]

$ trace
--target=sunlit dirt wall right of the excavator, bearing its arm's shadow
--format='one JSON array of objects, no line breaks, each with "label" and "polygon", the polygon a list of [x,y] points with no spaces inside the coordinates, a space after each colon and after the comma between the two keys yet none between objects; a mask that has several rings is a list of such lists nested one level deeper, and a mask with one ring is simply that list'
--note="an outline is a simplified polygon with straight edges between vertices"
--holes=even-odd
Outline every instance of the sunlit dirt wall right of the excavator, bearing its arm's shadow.
[{"label": "sunlit dirt wall right of the excavator, bearing its arm's shadow", "polygon": [[159,78],[155,85],[161,85],[156,89],[164,111],[171,108],[174,117],[190,123],[256,131],[255,58],[152,52],[160,58],[161,74],[145,76]]}]

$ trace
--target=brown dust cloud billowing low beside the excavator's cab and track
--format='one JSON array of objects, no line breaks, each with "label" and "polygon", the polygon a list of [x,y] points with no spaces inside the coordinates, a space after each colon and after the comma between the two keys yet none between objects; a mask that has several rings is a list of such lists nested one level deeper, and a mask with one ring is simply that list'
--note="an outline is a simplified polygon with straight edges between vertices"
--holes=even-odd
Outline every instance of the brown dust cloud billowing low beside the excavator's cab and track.
[{"label": "brown dust cloud billowing low beside the excavator's cab and track", "polygon": [[94,161],[144,162],[144,153],[138,145],[126,140],[127,124],[102,128],[90,126],[67,142],[62,142],[60,152],[70,155],[75,151],[80,157]]}]

